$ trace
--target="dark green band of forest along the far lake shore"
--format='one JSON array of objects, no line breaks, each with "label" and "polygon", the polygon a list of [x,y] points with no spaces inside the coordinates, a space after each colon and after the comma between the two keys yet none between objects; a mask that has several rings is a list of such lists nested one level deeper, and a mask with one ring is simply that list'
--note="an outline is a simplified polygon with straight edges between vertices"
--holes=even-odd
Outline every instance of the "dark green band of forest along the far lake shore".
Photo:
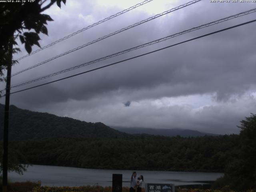
[{"label": "dark green band of forest along the far lake shore", "polygon": [[197,138],[139,135],[12,142],[30,164],[98,169],[223,172],[238,135]]}]

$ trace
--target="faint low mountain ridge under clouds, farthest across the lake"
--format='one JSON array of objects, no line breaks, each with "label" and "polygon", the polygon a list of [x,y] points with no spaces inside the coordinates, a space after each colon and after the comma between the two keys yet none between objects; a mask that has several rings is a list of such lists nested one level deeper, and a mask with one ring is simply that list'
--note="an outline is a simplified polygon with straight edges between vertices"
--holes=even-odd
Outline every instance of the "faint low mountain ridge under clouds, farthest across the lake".
[{"label": "faint low mountain ridge under clouds, farthest across the lake", "polygon": [[118,127],[111,126],[115,130],[125,132],[128,134],[150,134],[150,135],[160,135],[175,137],[177,135],[181,137],[200,137],[200,136],[218,136],[217,134],[204,133],[195,130],[188,129],[156,129],[156,128],[142,128],[142,127]]}]

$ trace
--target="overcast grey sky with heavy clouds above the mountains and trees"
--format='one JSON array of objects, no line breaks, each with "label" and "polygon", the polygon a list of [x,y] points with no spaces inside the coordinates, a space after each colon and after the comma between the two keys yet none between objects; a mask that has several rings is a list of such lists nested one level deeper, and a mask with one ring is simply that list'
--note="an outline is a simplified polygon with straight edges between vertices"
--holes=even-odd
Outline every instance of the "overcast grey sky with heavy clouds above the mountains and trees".
[{"label": "overcast grey sky with heavy clouds above the mountains and trees", "polygon": [[[189,1],[189,0],[188,0]],[[20,61],[12,74],[126,26],[188,2],[153,0]],[[232,0],[230,0],[232,1]],[[238,0],[239,1],[239,0]],[[142,0],[67,0],[46,10],[48,35],[40,45],[76,32]],[[256,8],[256,3],[202,0],[12,77],[12,84],[89,62],[140,44]],[[196,30],[12,92],[111,64],[256,18],[252,13]],[[256,113],[256,23],[247,24],[114,66],[11,95],[19,108],[108,126],[182,128],[239,133],[240,121]],[[24,45],[19,58],[26,54]],[[38,49],[33,46],[33,50]],[[4,84],[1,84],[4,88]],[[1,98],[4,103],[4,98]]]}]

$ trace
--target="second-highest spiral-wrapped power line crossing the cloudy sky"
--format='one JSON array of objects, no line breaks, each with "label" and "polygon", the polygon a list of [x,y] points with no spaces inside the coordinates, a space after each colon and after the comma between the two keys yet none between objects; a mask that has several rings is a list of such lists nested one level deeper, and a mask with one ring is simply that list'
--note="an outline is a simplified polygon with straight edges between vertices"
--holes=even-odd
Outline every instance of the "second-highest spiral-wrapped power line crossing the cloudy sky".
[{"label": "second-highest spiral-wrapped power line crossing the cloudy sky", "polygon": [[103,36],[103,37],[101,37],[101,38],[98,38],[98,39],[96,39],[96,40],[93,40],[93,41],[91,41],[91,42],[88,42],[88,43],[86,43],[86,44],[84,44],[84,45],[81,45],[81,46],[79,46],[79,47],[77,47],[77,48],[74,48],[74,49],[72,49],[72,50],[69,50],[69,51],[67,51],[67,52],[65,52],[65,53],[62,53],[62,54],[60,54],[60,55],[58,55],[58,56],[55,56],[55,57],[53,57],[53,58],[50,58],[50,59],[48,59],[48,60],[45,60],[45,61],[40,62],[40,63],[38,63],[38,64],[35,64],[34,66],[31,66],[31,67],[29,67],[29,68],[26,68],[26,69],[24,69],[24,70],[21,70],[21,71],[19,71],[19,72],[16,72],[16,73],[12,74],[12,76],[18,75],[18,74],[20,74],[20,73],[22,73],[22,72],[24,72],[24,71],[30,70],[30,69],[32,69],[32,68],[35,68],[35,67],[40,66],[40,65],[42,65],[42,64],[45,64],[45,63],[47,63],[47,62],[49,62],[49,61],[52,61],[52,60],[54,60],[54,59],[56,59],[56,58],[59,58],[59,57],[61,57],[61,56],[64,56],[64,55],[69,54],[69,53],[71,53],[71,52],[74,52],[74,51],[79,50],[79,49],[81,49],[81,48],[84,48],[84,47],[86,47],[86,46],[88,46],[88,45],[90,45],[90,44],[96,43],[96,42],[98,42],[98,41],[100,41],[100,40],[103,40],[103,39],[105,39],[105,38],[108,38],[108,37],[110,37],[110,36],[113,36],[113,35],[115,35],[115,34],[118,34],[118,33],[120,33],[120,32],[123,32],[123,31],[125,31],[125,30],[128,30],[128,29],[130,29],[130,28],[133,28],[133,27],[135,27],[135,26],[138,26],[138,25],[140,25],[140,24],[143,24],[143,23],[145,23],[145,22],[148,22],[148,21],[150,21],[150,20],[153,20],[153,19],[155,19],[155,18],[158,18],[158,17],[163,16],[163,15],[165,15],[165,14],[168,14],[168,13],[170,13],[170,12],[176,11],[176,10],[178,10],[178,9],[184,8],[184,7],[186,7],[186,6],[189,6],[189,5],[194,4],[194,3],[196,3],[196,2],[199,2],[199,1],[201,1],[201,0],[193,0],[193,1],[187,2],[186,4],[180,5],[180,6],[176,7],[176,8],[172,8],[172,9],[170,9],[170,10],[168,10],[168,11],[162,12],[162,13],[160,13],[160,14],[156,14],[156,15],[153,16],[153,17],[150,17],[150,18],[147,18],[147,19],[145,19],[145,20],[142,20],[142,21],[140,21],[140,22],[138,22],[138,23],[135,23],[135,24],[133,24],[133,25],[130,25],[130,26],[126,27],[126,28],[122,28],[122,29],[120,29],[120,30],[118,30],[118,31],[116,31],[116,32],[110,33],[110,34],[108,34],[108,35],[106,35],[106,36]]}]

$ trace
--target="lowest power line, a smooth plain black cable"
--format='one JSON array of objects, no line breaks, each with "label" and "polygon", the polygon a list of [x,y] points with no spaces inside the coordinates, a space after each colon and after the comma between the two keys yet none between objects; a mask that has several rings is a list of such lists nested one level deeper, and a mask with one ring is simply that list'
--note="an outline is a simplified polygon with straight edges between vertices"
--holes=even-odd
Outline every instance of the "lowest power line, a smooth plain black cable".
[{"label": "lowest power line, a smooth plain black cable", "polygon": [[[252,22],[256,22],[256,20],[251,20],[251,21],[248,21],[248,22],[244,22],[244,23],[242,23],[242,24],[238,24],[238,25],[232,26],[232,27],[224,28],[224,29],[222,29],[222,30],[218,30],[218,31],[215,31],[215,32],[211,32],[211,33],[208,33],[208,34],[205,34],[205,35],[202,35],[202,36],[198,36],[198,37],[196,37],[196,38],[192,38],[192,39],[189,39],[189,40],[180,42],[180,43],[176,43],[176,44],[173,44],[173,45],[170,45],[170,46],[161,48],[161,49],[157,49],[157,50],[154,50],[154,51],[151,51],[151,52],[147,52],[147,53],[145,53],[145,54],[141,54],[141,55],[138,55],[138,56],[134,56],[134,57],[131,57],[131,58],[128,58],[128,59],[125,59],[125,60],[121,60],[121,61],[118,61],[118,62],[114,62],[114,63],[112,63],[112,64],[108,64],[108,65],[105,65],[105,66],[101,66],[101,67],[98,67],[98,68],[94,68],[94,69],[92,69],[92,70],[88,70],[88,71],[85,71],[85,72],[82,72],[82,73],[74,74],[74,75],[71,75],[71,76],[68,76],[68,77],[65,77],[65,78],[61,78],[61,79],[58,79],[58,80],[54,80],[54,81],[51,81],[51,82],[47,82],[47,83],[44,83],[44,84],[40,84],[40,85],[37,85],[37,86],[33,86],[33,87],[30,87],[30,88],[26,88],[26,89],[23,89],[23,90],[19,90],[19,91],[16,91],[16,92],[12,92],[12,93],[10,93],[10,94],[22,92],[22,91],[29,90],[29,89],[32,89],[32,88],[40,87],[40,86],[47,85],[47,84],[50,84],[50,83],[53,83],[53,82],[57,82],[57,81],[64,80],[64,79],[68,79],[68,78],[71,78],[71,77],[74,77],[74,76],[78,76],[78,75],[81,75],[81,74],[85,74],[85,73],[88,73],[88,72],[92,72],[92,71],[95,71],[95,70],[98,70],[98,69],[101,69],[101,68],[105,68],[105,67],[108,67],[108,66],[112,66],[112,65],[115,65],[115,64],[124,62],[124,61],[132,60],[132,59],[134,59],[134,58],[138,58],[138,57],[141,57],[141,56],[144,56],[144,55],[148,55],[148,54],[151,54],[151,53],[160,51],[160,50],[164,50],[164,49],[166,49],[166,48],[170,48],[170,47],[173,47],[173,46],[176,46],[176,45],[179,45],[179,44],[183,44],[183,43],[185,43],[185,42],[189,42],[189,41],[192,41],[192,40],[196,40],[196,39],[199,39],[199,38],[202,38],[202,37],[205,37],[205,36],[209,36],[209,35],[212,35],[212,34],[216,34],[216,33],[219,33],[219,32],[225,31],[225,30],[229,30],[229,29],[232,29],[232,28],[236,28],[236,27],[238,27],[238,26],[246,25],[246,24],[249,24],[249,23],[252,23]],[[5,95],[4,95],[4,96],[5,96]],[[1,97],[3,97],[3,96],[1,96]]]}]

